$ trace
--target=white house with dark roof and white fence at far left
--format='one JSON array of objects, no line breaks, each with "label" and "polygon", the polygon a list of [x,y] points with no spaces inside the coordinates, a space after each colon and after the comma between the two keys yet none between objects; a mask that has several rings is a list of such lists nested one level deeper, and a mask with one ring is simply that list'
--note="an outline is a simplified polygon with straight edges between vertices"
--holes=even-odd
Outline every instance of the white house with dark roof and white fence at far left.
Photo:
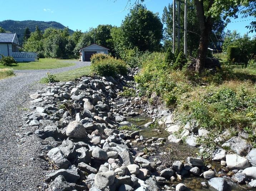
[{"label": "white house with dark roof and white fence at far left", "polygon": [[37,61],[35,52],[19,52],[19,41],[14,32],[0,32],[0,58],[1,55],[11,56],[17,62]]}]

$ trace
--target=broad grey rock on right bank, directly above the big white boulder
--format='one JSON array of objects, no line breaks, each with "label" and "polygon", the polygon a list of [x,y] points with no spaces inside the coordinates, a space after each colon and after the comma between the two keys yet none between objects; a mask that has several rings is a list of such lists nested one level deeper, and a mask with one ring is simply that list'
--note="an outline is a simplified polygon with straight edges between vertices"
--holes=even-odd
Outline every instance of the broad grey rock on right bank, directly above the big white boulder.
[{"label": "broad grey rock on right bank, directly above the big white boulder", "polygon": [[247,143],[245,139],[238,138],[237,136],[233,136],[221,146],[230,147],[231,150],[235,151],[238,155],[241,156],[247,155],[248,151],[250,150],[250,144]]}]

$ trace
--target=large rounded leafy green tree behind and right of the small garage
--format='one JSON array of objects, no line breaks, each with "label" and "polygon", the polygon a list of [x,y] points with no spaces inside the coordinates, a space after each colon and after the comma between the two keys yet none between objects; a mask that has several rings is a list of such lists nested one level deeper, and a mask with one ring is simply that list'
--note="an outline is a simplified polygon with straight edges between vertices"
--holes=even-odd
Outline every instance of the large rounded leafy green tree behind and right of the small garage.
[{"label": "large rounded leafy green tree behind and right of the small garage", "polygon": [[155,51],[161,47],[163,24],[158,13],[154,14],[141,4],[130,10],[120,29],[124,45],[130,49],[138,47],[140,51]]}]

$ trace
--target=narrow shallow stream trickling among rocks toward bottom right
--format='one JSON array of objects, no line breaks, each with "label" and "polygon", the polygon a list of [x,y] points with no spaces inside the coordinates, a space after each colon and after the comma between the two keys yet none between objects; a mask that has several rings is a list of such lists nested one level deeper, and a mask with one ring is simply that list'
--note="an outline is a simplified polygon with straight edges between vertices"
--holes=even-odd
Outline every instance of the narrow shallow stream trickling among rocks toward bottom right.
[{"label": "narrow shallow stream trickling among rocks toward bottom right", "polygon": [[[126,102],[126,100],[123,100],[123,98],[118,98],[114,100],[113,107],[119,108],[121,105],[123,105]],[[148,117],[146,113],[143,112],[142,109],[134,109],[134,112],[138,112],[138,115],[135,117],[126,117],[126,120],[129,122],[129,124],[124,125],[135,125],[138,130],[140,131],[139,135],[142,135],[145,140],[152,139],[152,138],[164,138],[166,141],[164,141],[164,144],[161,145],[154,145],[152,146],[149,143],[142,144],[141,141],[138,141],[136,144],[134,144],[135,139],[131,139],[132,141],[132,148],[136,150],[136,153],[142,153],[145,151],[145,148],[155,148],[156,150],[153,152],[152,155],[150,155],[147,160],[149,161],[157,161],[157,160],[163,160],[163,157],[161,154],[163,152],[168,152],[170,150],[174,150],[172,153],[173,158],[172,160],[181,160],[185,161],[188,156],[194,155],[196,153],[199,153],[198,148],[195,148],[193,146],[189,146],[187,144],[177,144],[177,143],[171,143],[168,141],[168,136],[170,135],[163,125],[158,125],[157,127],[144,127],[144,124],[148,122],[152,122],[152,118]],[[177,156],[175,156],[177,155]],[[222,166],[220,162],[217,161],[207,161],[206,164],[211,165],[212,169],[216,172],[216,177],[223,177],[226,179],[228,184],[230,185],[232,191],[256,191],[256,188],[250,188],[246,186],[245,184],[240,185],[236,184],[231,180],[230,177],[225,176],[227,173],[220,171]],[[156,174],[156,176],[158,176]],[[201,182],[208,182],[206,179],[200,176],[194,176],[194,175],[184,175],[182,176],[181,180],[175,180],[175,181],[169,181],[166,182],[166,185],[169,186],[161,186],[161,189],[168,190],[172,187],[172,185],[177,185],[178,183],[183,183],[188,187],[188,190],[191,191],[209,191],[214,190],[211,187],[208,186],[202,186]]]}]

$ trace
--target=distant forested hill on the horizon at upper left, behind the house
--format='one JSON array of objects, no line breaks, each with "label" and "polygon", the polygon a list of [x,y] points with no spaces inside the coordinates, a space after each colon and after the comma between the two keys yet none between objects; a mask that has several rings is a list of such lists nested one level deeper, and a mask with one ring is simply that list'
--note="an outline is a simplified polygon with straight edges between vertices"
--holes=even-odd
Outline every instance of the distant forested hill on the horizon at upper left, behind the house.
[{"label": "distant forested hill on the horizon at upper left, behind the house", "polygon": [[[4,20],[0,21],[0,26],[3,27],[6,31],[16,32],[19,42],[23,38],[23,33],[26,27],[29,28],[31,32],[35,31],[35,27],[38,26],[40,30],[45,30],[47,28],[55,28],[55,29],[64,29],[65,26],[55,21],[34,21],[34,20],[26,20],[26,21],[14,21],[14,20]],[[73,30],[69,29],[69,33],[73,34]],[[20,38],[21,34],[21,38]]]}]

